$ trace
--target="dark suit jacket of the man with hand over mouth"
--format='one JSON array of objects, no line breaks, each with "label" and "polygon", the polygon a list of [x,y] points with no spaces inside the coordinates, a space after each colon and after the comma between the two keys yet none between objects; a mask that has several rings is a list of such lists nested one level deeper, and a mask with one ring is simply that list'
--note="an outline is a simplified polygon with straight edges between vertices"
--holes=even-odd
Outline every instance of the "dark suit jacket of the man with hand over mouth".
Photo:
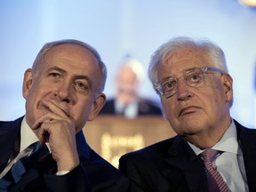
[{"label": "dark suit jacket of the man with hand over mouth", "polygon": [[[0,172],[4,170],[12,154],[22,118],[0,122]],[[52,156],[48,155],[43,160],[36,161],[34,168],[10,191],[125,191],[128,180],[88,146],[82,131],[76,134],[76,146],[80,164],[74,170],[62,176],[54,175],[57,166]]]}]

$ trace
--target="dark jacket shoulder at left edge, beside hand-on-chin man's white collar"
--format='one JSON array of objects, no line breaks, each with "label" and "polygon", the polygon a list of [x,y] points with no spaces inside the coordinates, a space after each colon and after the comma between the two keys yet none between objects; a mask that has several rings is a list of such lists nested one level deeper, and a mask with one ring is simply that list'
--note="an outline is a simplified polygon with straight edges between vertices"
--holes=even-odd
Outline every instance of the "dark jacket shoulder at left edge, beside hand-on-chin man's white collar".
[{"label": "dark jacket shoulder at left edge, beside hand-on-chin man's white collar", "polygon": [[4,170],[14,148],[17,136],[20,134],[20,124],[23,116],[12,122],[4,122],[0,127],[0,172]]}]

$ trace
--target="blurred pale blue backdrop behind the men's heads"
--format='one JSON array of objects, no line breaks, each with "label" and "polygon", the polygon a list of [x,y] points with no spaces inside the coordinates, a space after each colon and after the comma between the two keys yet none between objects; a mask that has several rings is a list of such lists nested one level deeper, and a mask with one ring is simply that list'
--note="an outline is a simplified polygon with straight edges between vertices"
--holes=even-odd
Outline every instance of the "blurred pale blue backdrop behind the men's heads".
[{"label": "blurred pale blue backdrop behind the men's heads", "polygon": [[[0,119],[24,114],[21,86],[44,43],[64,38],[95,47],[108,68],[105,92],[127,55],[148,68],[150,55],[173,36],[208,37],[226,53],[234,78],[231,113],[256,127],[256,9],[236,0],[1,0]],[[148,79],[140,94],[159,99]]]}]

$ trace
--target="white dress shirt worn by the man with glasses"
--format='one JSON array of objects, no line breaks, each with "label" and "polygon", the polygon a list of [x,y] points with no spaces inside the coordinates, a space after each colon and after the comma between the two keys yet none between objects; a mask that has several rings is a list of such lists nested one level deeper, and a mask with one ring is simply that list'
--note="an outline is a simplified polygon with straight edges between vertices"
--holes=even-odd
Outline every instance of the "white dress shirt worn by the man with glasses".
[{"label": "white dress shirt worn by the man with glasses", "polygon": [[[189,142],[188,144],[197,156],[204,151]],[[244,170],[243,152],[237,142],[236,124],[233,120],[228,130],[212,149],[223,151],[220,156],[217,156],[213,166],[217,167],[228,188],[232,192],[249,191]]]}]

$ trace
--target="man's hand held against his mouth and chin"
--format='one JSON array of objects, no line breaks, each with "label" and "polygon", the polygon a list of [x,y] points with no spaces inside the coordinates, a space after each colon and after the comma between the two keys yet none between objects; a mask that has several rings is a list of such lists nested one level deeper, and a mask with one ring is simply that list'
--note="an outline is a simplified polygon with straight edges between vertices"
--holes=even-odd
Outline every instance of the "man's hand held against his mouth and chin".
[{"label": "man's hand held against his mouth and chin", "polygon": [[43,101],[48,113],[40,116],[32,129],[44,144],[49,142],[52,157],[57,162],[58,172],[71,171],[79,164],[76,151],[76,127],[67,112],[50,101]]}]

